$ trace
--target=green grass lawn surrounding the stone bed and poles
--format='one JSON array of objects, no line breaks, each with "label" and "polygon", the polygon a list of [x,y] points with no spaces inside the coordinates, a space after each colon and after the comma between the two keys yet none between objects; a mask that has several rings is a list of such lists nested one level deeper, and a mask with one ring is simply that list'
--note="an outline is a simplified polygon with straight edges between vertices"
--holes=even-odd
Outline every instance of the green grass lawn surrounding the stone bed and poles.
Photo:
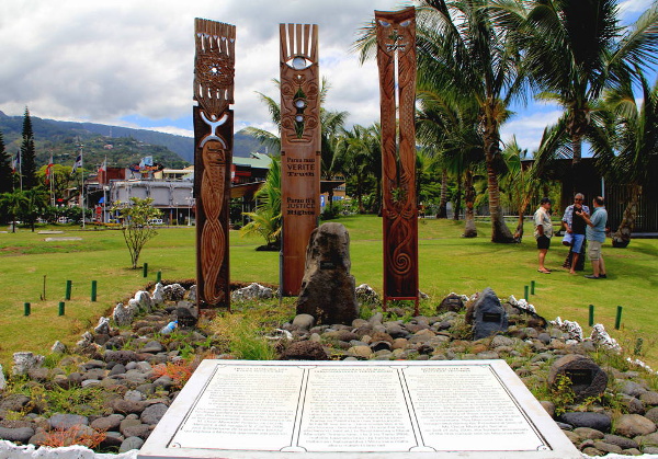
[{"label": "green grass lawn surrounding the stone bed and poles", "polygon": [[[343,217],[350,231],[352,274],[356,284],[366,283],[382,290],[382,220],[374,216]],[[552,274],[536,271],[536,249],[526,223],[521,244],[492,244],[490,227],[478,223],[479,237],[463,239],[463,221],[420,220],[420,289],[431,296],[423,312],[451,291],[470,295],[491,287],[499,297],[523,297],[524,286],[536,282],[531,296],[537,312],[548,320],[557,315],[576,320],[589,335],[589,305],[595,306],[595,322],[622,344],[633,347],[637,337],[645,341],[644,360],[658,367],[656,348],[658,285],[658,240],[634,240],[628,249],[603,249],[609,272],[606,280],[571,276],[560,268],[567,248],[556,238],[548,251]],[[61,229],[61,228],[58,228]],[[131,297],[156,273],[163,279],[195,276],[194,228],[162,228],[145,248],[140,263],[147,262],[149,275],[129,269],[129,256],[121,231],[65,227],[65,234],[38,234],[21,229],[15,234],[0,233],[0,364],[9,369],[18,351],[47,353],[56,340],[73,344],[101,314],[109,314],[117,301]],[[82,241],[45,242],[47,237],[80,237]],[[257,252],[262,241],[231,232],[231,280],[279,283],[279,254]],[[589,268],[589,265],[588,265]],[[46,299],[43,300],[44,276]],[[58,317],[66,280],[73,283],[66,314]],[[98,280],[98,301],[90,301],[91,280]],[[23,315],[23,303],[31,302],[32,314]],[[623,306],[622,330],[614,330],[616,308]]]}]

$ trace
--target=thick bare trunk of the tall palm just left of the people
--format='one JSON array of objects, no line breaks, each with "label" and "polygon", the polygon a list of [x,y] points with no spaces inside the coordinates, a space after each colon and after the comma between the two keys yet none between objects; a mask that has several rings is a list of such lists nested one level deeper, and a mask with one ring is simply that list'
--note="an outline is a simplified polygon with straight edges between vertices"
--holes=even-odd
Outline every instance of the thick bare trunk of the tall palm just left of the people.
[{"label": "thick bare trunk of the tall palm just left of the people", "polygon": [[491,242],[514,242],[512,232],[504,223],[500,210],[500,187],[494,161],[500,154],[500,134],[498,125],[492,117],[486,119],[485,125],[485,161],[487,165],[487,190],[489,192],[489,215],[491,216]]}]

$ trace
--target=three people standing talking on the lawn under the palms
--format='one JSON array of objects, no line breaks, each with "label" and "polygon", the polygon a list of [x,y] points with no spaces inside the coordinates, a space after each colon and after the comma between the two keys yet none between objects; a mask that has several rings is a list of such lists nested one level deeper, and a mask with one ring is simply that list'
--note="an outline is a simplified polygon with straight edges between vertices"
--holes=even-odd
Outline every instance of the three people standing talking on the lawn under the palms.
[{"label": "three people standing talking on the lawn under the palms", "polygon": [[[563,216],[563,225],[566,228],[564,238],[565,245],[570,246],[569,274],[576,274],[578,261],[585,255],[585,243],[587,241],[587,253],[592,263],[592,274],[585,277],[588,279],[604,279],[608,277],[605,263],[601,254],[601,245],[605,242],[605,225],[608,223],[608,211],[605,202],[601,196],[592,200],[593,211],[583,204],[585,196],[577,193],[574,196],[574,204],[567,207]],[[553,238],[553,222],[551,221],[551,199],[542,198],[540,208],[534,214],[534,237],[537,241],[540,251],[540,267],[537,272],[551,274],[545,265],[546,253],[551,246]]]}]

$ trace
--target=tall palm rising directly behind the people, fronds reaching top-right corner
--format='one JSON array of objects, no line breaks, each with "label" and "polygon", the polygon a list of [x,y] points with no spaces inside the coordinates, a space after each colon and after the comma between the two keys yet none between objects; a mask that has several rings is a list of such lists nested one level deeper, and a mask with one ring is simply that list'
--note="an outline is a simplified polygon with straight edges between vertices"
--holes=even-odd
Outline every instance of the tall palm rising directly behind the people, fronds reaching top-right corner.
[{"label": "tall palm rising directly behind the people, fronds reaching top-right corner", "polygon": [[[593,104],[635,66],[656,64],[658,2],[629,27],[619,24],[616,0],[496,0],[498,25],[517,31],[523,64],[541,99],[565,108],[571,141],[574,186],[579,183],[582,140]],[[526,8],[526,5],[529,7]]]}]

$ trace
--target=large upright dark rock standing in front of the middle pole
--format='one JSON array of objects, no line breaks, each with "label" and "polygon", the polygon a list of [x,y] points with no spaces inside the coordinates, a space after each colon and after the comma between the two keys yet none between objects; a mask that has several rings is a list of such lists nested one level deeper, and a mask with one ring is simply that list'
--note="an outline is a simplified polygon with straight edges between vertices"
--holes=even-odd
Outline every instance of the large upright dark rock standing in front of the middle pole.
[{"label": "large upright dark rock standing in front of the middle pole", "polygon": [[308,242],[297,313],[310,314],[318,323],[352,323],[359,317],[359,305],[350,267],[350,236],[345,227],[320,225]]}]

